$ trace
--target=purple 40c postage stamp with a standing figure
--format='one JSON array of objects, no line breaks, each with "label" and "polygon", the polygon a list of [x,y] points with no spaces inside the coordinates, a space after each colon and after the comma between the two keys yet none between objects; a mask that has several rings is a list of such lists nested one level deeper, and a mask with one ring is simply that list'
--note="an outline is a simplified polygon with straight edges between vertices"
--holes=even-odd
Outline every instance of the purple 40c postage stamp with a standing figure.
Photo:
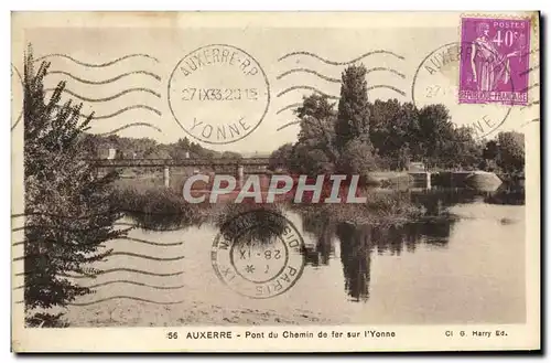
[{"label": "purple 40c postage stamp with a standing figure", "polygon": [[530,20],[463,18],[460,104],[526,105]]}]

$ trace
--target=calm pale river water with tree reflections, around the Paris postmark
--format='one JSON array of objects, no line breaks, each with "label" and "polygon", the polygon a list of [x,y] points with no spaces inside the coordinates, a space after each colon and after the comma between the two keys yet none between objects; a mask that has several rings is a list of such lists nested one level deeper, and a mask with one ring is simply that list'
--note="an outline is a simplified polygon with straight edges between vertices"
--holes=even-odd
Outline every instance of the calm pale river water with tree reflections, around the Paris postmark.
[{"label": "calm pale river water with tree reflections, around the Paris postmark", "polygon": [[412,200],[447,217],[356,226],[285,210],[305,266],[294,286],[268,299],[241,296],[215,274],[214,224],[131,229],[129,239],[108,242],[121,254],[98,267],[114,271],[79,279],[95,292],[66,318],[73,327],[525,322],[518,195],[433,190]]}]

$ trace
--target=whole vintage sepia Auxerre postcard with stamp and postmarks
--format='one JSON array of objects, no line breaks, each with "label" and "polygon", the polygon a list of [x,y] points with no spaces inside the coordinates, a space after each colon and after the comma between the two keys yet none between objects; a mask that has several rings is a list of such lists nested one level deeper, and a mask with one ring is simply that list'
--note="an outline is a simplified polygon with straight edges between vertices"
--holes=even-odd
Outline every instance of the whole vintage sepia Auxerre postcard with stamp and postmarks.
[{"label": "whole vintage sepia Auxerre postcard with stamp and postmarks", "polygon": [[15,352],[541,349],[540,14],[13,12]]}]

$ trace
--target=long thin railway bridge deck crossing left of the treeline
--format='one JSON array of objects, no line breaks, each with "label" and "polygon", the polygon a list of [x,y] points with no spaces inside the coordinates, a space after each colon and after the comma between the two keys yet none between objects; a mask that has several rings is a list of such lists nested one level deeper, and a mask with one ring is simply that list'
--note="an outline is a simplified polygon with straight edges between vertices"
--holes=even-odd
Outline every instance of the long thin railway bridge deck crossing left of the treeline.
[{"label": "long thin railway bridge deck crossing left of the treeline", "polygon": [[245,159],[94,159],[99,168],[154,168],[154,167],[266,167],[269,158]]}]

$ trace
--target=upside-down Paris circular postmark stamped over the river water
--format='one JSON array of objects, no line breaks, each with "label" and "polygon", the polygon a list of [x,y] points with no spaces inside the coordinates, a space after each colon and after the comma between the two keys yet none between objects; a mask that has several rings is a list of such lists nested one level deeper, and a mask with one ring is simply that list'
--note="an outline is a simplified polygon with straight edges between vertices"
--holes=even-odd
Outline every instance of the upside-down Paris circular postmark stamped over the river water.
[{"label": "upside-down Paris circular postmark stamped over the river water", "polygon": [[267,299],[288,291],[304,269],[304,241],[278,212],[255,210],[227,221],[215,237],[210,259],[234,291]]}]

